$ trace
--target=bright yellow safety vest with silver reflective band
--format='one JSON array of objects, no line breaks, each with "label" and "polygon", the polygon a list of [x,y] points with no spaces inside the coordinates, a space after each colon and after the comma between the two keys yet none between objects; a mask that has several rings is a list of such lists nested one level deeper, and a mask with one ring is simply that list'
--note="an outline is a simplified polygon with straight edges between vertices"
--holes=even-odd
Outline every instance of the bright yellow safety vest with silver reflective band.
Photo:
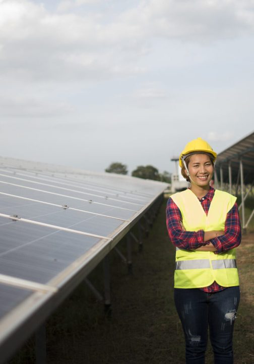
[{"label": "bright yellow safety vest with silver reflective band", "polygon": [[[170,197],[181,211],[186,231],[223,231],[227,213],[236,201],[227,192],[215,190],[206,215],[199,199],[189,189]],[[208,287],[214,281],[223,287],[239,285],[235,249],[214,254],[176,248],[175,260],[175,288]]]}]

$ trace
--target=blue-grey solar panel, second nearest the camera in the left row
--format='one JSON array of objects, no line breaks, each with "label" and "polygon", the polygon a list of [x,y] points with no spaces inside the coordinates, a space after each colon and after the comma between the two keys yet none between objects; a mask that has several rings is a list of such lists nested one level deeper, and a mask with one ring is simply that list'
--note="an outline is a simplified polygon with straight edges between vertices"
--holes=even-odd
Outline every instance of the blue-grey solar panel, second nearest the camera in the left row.
[{"label": "blue-grey solar panel, second nearest the camera in the left row", "polygon": [[46,284],[99,239],[13,221],[0,227],[0,274]]}]

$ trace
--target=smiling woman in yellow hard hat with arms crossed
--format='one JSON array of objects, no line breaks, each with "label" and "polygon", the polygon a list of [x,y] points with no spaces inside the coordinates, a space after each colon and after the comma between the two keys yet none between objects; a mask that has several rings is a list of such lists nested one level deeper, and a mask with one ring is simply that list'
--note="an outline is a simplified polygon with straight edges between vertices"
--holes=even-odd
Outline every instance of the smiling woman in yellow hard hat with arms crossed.
[{"label": "smiling woman in yellow hard hat with arms crossed", "polygon": [[176,247],[175,306],[185,336],[186,364],[204,364],[209,327],[215,364],[232,364],[240,299],[235,247],[241,241],[236,197],[210,187],[217,154],[198,138],[179,157],[190,188],[167,203],[167,229]]}]

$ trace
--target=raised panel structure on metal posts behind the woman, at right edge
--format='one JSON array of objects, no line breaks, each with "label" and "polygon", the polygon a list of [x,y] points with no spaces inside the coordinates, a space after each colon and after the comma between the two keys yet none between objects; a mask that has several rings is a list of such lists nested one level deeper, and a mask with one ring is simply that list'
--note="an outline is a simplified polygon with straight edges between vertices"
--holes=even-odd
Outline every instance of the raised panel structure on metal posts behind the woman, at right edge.
[{"label": "raised panel structure on metal posts behind the woman, at right edge", "polygon": [[[233,144],[223,152],[218,154],[215,168],[215,183],[220,181],[221,189],[224,183],[228,181],[229,193],[232,193],[232,185],[236,185],[236,194],[238,186],[241,187],[241,205],[243,230],[248,226],[249,221],[254,215],[254,209],[250,214],[247,222],[244,215],[244,200],[252,189],[254,182],[254,132],[251,132],[239,142]],[[244,186],[250,185],[245,193]]]}]

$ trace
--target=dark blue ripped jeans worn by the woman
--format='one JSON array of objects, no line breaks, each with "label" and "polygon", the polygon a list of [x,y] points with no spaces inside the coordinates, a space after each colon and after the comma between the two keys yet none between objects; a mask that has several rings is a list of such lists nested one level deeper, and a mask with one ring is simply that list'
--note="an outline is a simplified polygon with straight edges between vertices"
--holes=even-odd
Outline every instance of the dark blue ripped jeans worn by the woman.
[{"label": "dark blue ripped jeans worn by the woman", "polygon": [[215,364],[233,363],[233,327],[239,286],[206,293],[198,288],[174,289],[176,310],[185,336],[186,364],[204,364],[208,326]]}]

